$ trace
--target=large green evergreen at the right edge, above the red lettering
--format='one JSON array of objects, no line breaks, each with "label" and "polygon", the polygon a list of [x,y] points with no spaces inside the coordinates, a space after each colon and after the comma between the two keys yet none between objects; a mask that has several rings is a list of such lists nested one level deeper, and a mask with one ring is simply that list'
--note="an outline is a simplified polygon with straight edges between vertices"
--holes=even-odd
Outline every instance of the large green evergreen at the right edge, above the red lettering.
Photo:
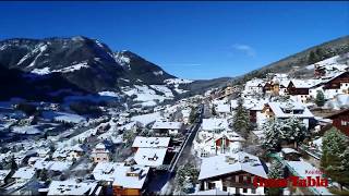
[{"label": "large green evergreen at the right edge, above the red lettering", "polygon": [[324,134],[323,156],[321,158],[321,168],[335,182],[342,185],[348,184],[349,149],[348,137],[337,128],[333,127]]}]

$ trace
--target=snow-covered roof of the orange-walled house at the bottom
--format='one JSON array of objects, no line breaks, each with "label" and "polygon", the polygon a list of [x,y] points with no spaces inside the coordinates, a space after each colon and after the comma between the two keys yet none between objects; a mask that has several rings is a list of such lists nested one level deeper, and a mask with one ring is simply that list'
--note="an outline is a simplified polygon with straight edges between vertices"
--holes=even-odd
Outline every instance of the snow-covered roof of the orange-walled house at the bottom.
[{"label": "snow-covered roof of the orange-walled house at the bottom", "polygon": [[147,179],[149,168],[141,166],[121,166],[115,172],[115,181],[112,185],[122,186],[124,188],[142,189]]}]

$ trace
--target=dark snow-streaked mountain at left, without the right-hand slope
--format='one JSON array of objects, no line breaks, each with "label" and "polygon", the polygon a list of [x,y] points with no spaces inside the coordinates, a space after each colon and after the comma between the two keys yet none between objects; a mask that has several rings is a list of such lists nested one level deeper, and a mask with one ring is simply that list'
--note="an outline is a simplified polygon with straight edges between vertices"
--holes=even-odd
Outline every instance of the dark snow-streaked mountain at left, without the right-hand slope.
[{"label": "dark snow-streaked mountain at left, without the right-hand slope", "polygon": [[[83,36],[0,41],[0,69],[3,75],[1,81],[8,83],[0,89],[12,89],[1,96],[4,98],[43,98],[67,88],[74,93],[122,94],[122,87],[132,88],[134,85],[165,85],[176,96],[184,96],[189,89],[195,94],[203,93],[229,79],[169,84],[169,79],[177,77],[160,66],[131,51],[115,52],[107,45]],[[9,78],[10,75],[16,79]],[[33,96],[34,93],[36,96]]]}]

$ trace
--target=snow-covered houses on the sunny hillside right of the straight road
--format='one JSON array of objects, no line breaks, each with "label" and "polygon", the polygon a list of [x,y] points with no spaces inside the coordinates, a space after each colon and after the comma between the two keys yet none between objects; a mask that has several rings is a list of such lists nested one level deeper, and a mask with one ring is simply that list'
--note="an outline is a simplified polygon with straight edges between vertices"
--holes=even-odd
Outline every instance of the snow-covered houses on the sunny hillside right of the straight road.
[{"label": "snow-covered houses on the sunny hillside right of the straight road", "polygon": [[[226,88],[220,93],[207,93],[214,117],[203,119],[193,144],[195,156],[202,159],[198,175],[198,188],[192,195],[265,195],[264,187],[253,186],[253,179],[267,179],[270,163],[255,155],[244,151],[245,139],[232,128],[238,98],[231,96],[231,89],[243,99],[249,111],[253,134],[257,140],[264,138],[263,125],[274,119],[296,118],[308,130],[317,132],[326,126],[335,126],[349,136],[349,70],[348,65],[326,69],[314,65],[314,77],[292,78],[288,74],[268,74],[266,78],[253,78],[244,87]],[[339,66],[339,65],[338,65]],[[316,111],[317,91],[324,94],[327,101],[323,109],[328,114]],[[228,91],[229,94],[226,94]],[[341,107],[326,108],[328,102],[340,99]],[[344,106],[344,107],[342,107]],[[347,108],[346,108],[347,107]],[[310,144],[318,144],[321,138]],[[257,145],[257,144],[256,144]],[[304,144],[305,145],[305,144]],[[321,145],[320,145],[321,146]],[[306,155],[306,158],[303,155]],[[275,157],[286,166],[285,176],[306,177],[304,171],[320,171],[321,149],[304,151],[294,146],[282,146]],[[312,177],[322,177],[312,173]],[[282,194],[290,194],[288,188]],[[294,189],[293,189],[294,194]],[[296,194],[330,195],[326,187],[296,188]]]}]

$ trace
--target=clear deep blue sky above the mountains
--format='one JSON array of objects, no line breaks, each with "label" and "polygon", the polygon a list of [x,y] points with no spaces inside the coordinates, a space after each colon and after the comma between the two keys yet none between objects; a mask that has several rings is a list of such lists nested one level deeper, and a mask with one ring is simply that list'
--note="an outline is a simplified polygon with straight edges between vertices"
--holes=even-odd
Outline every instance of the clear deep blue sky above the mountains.
[{"label": "clear deep blue sky above the mountains", "polygon": [[84,35],[214,78],[348,35],[349,2],[0,2],[0,39]]}]

